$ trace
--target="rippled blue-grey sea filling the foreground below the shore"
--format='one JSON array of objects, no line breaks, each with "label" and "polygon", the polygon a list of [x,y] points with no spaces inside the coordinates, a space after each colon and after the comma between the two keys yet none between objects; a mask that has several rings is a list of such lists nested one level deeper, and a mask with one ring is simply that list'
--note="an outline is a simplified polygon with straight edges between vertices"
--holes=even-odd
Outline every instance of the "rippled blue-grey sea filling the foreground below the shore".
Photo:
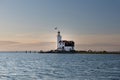
[{"label": "rippled blue-grey sea filling the foreground below the shore", "polygon": [[120,80],[120,55],[0,53],[0,80]]}]

